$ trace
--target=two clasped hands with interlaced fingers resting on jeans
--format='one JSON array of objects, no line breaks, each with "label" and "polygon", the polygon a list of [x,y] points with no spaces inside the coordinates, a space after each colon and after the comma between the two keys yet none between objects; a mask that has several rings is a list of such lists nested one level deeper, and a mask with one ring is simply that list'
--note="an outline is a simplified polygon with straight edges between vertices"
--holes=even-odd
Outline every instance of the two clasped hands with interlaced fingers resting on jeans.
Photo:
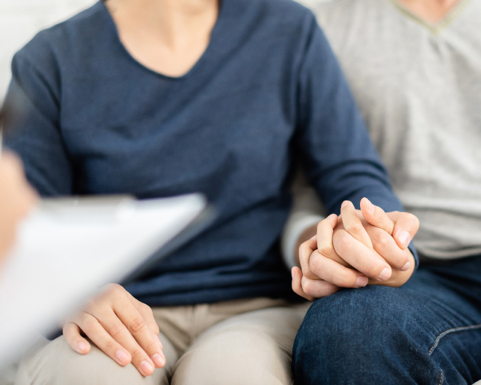
[{"label": "two clasped hands with interlaced fingers resting on jeans", "polygon": [[346,287],[401,286],[414,271],[408,245],[418,228],[412,214],[385,213],[367,198],[360,210],[344,201],[340,216],[319,222],[317,234],[300,245],[302,271],[292,268],[292,289],[312,301]]}]

